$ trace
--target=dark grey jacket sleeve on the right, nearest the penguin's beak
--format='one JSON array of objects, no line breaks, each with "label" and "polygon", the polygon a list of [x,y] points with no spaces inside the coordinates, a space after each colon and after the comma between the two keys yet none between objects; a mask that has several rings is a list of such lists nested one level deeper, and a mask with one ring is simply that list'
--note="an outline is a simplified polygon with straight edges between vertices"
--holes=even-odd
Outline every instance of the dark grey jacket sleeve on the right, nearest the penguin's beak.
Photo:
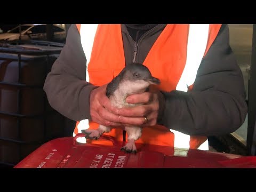
[{"label": "dark grey jacket sleeve on the right, nearest the penguin's beak", "polygon": [[229,45],[228,25],[222,25],[197,71],[193,90],[165,92],[161,122],[189,135],[234,132],[247,113],[243,75]]}]

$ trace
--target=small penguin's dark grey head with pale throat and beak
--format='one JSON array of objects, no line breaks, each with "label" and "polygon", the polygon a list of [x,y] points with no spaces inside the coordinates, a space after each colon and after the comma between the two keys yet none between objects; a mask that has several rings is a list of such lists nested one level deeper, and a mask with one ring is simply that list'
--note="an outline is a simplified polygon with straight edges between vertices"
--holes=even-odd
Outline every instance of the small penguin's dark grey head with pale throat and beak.
[{"label": "small penguin's dark grey head with pale throat and beak", "polygon": [[122,84],[128,86],[128,89],[142,91],[151,84],[159,85],[158,78],[153,77],[146,66],[140,63],[130,63],[121,71]]}]

